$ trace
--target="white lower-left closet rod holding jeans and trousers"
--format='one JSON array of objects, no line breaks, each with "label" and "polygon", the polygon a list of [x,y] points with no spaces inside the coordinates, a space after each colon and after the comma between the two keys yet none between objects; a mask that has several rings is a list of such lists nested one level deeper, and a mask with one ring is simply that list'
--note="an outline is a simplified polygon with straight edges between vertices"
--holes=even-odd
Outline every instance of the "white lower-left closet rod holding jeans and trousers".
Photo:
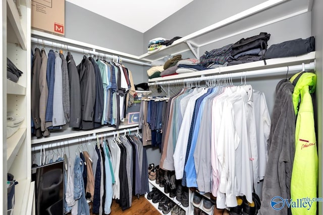
[{"label": "white lower-left closet rod holding jeans and trousers", "polygon": [[86,137],[75,137],[75,139],[71,139],[71,140],[57,140],[55,142],[47,142],[46,144],[39,144],[39,146],[37,147],[31,147],[31,151],[39,151],[41,149],[49,149],[49,148],[59,148],[59,147],[65,147],[67,145],[70,144],[75,144],[79,141],[86,141],[86,140],[91,140],[91,139],[95,139],[96,137],[104,137],[104,136],[112,136],[114,134],[120,134],[120,133],[127,133],[129,131],[139,131],[139,127],[134,127],[134,128],[127,128],[127,129],[123,129],[123,130],[117,130],[117,131],[111,131],[111,132],[107,132],[107,133],[101,133],[101,134],[96,134],[93,133],[89,136]]}]

